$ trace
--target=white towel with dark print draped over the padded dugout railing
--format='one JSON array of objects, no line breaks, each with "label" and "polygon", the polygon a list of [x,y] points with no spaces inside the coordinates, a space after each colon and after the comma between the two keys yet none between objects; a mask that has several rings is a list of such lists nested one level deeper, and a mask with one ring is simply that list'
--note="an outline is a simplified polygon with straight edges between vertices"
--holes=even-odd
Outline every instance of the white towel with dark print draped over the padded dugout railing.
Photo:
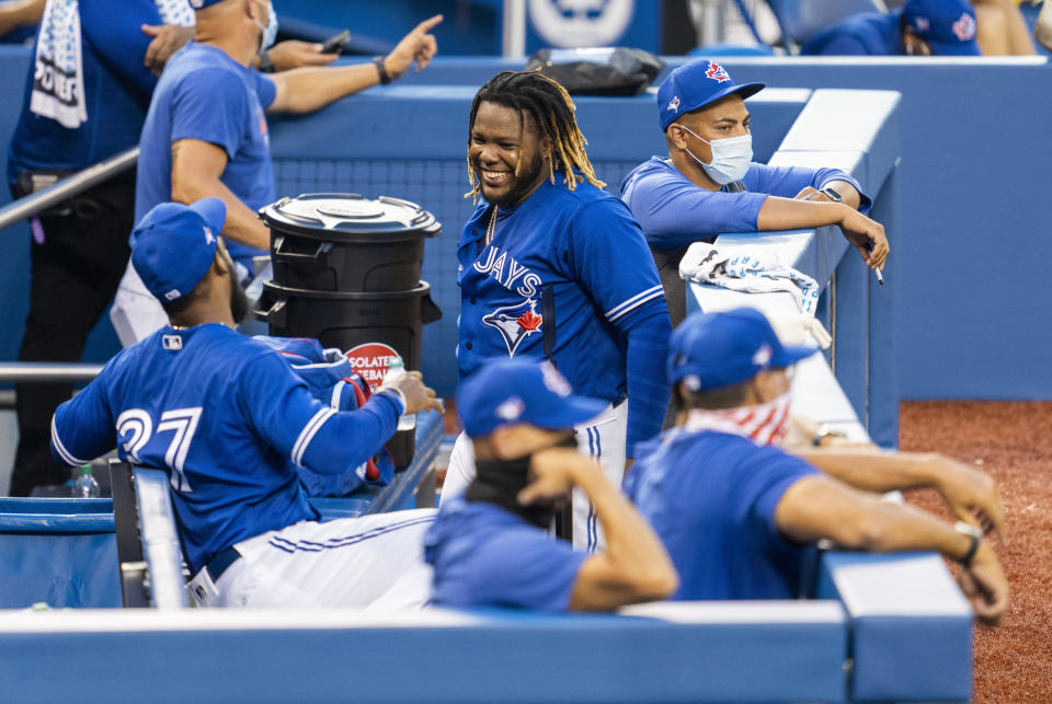
[{"label": "white towel with dark print draped over the padded dugout railing", "polygon": [[714,245],[695,242],[679,262],[679,278],[750,293],[785,291],[797,302],[802,313],[801,325],[819,345],[825,349],[832,342],[828,332],[814,318],[821,292],[817,281],[791,266],[748,254],[722,256]]}]

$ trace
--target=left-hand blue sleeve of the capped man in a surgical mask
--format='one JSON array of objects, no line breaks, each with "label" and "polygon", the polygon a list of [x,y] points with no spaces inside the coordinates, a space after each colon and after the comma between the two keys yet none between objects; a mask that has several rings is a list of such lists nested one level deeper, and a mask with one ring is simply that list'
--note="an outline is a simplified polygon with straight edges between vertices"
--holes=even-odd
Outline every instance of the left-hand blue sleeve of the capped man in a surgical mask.
[{"label": "left-hand blue sleeve of the capped man in a surgical mask", "polygon": [[763,193],[706,191],[675,170],[651,170],[631,178],[625,199],[655,250],[675,251],[711,242],[722,232],[755,232]]}]

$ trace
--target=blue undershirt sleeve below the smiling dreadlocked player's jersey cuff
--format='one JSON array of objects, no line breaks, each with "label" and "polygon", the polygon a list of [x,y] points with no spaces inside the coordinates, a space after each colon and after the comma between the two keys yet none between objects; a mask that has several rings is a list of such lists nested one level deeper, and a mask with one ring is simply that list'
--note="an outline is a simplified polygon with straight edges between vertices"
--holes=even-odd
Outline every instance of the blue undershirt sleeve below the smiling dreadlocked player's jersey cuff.
[{"label": "blue undershirt sleeve below the smiling dreadlocked player's jersey cuff", "polygon": [[636,446],[661,432],[671,394],[665,380],[665,358],[672,321],[664,299],[627,316],[621,333],[628,341],[628,435],[626,457],[636,457]]}]

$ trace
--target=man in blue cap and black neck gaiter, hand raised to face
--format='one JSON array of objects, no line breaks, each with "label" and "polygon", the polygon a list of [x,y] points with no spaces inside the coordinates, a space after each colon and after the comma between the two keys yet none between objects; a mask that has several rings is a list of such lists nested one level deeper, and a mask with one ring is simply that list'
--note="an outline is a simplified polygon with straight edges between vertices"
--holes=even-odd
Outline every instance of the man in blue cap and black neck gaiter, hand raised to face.
[{"label": "man in blue cap and black neck gaiter, hand raised to face", "polygon": [[[676,589],[653,530],[574,449],[572,428],[606,402],[571,392],[550,365],[525,359],[492,360],[464,383],[461,418],[478,473],[464,496],[443,503],[425,536],[435,604],[611,611]],[[606,531],[606,546],[593,554],[546,531],[571,486]]]}]

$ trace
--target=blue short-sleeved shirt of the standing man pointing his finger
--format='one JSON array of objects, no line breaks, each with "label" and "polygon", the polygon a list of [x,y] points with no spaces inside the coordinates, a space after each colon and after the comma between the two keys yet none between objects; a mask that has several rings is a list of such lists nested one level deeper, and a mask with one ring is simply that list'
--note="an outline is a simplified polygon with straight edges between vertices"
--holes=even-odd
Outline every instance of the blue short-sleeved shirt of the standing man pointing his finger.
[{"label": "blue short-sleeved shirt of the standing man pointing his finger", "polygon": [[[172,199],[172,142],[199,139],[222,148],[220,181],[244,205],[259,210],[276,198],[271,140],[264,111],[274,82],[217,47],[191,42],[164,67],[139,140],[135,219]],[[260,250],[227,240],[235,259]]]}]

